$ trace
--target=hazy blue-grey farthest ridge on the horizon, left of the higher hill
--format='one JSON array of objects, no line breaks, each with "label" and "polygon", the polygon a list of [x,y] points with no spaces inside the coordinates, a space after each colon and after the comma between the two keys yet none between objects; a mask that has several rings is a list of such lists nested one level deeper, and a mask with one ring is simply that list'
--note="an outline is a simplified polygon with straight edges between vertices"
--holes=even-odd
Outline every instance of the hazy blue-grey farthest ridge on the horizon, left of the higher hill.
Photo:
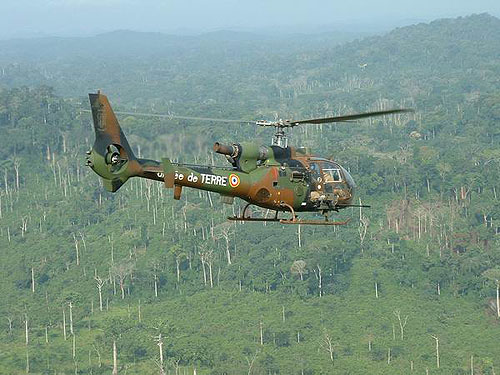
[{"label": "hazy blue-grey farthest ridge on the horizon, left of the higher hill", "polygon": [[93,37],[43,37],[34,39],[13,39],[0,41],[0,61],[27,59],[44,61],[53,58],[73,58],[75,56],[151,57],[169,56],[195,49],[205,50],[221,43],[230,48],[277,48],[283,44],[292,48],[311,48],[311,43],[337,44],[352,40],[361,33],[336,33],[318,35],[282,35],[271,37],[238,31],[216,31],[198,36],[178,36],[163,33],[117,30]]}]

